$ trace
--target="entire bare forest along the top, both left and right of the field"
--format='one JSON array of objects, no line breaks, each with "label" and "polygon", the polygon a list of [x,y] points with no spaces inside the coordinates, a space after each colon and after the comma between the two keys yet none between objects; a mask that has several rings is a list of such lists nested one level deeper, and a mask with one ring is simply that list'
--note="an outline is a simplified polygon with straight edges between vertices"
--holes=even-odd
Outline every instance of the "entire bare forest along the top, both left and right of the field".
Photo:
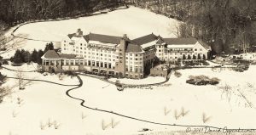
[{"label": "entire bare forest along the top, both left and right of the field", "polygon": [[90,14],[124,3],[182,20],[177,36],[201,39],[215,53],[256,46],[255,0],[0,0],[0,26]]}]

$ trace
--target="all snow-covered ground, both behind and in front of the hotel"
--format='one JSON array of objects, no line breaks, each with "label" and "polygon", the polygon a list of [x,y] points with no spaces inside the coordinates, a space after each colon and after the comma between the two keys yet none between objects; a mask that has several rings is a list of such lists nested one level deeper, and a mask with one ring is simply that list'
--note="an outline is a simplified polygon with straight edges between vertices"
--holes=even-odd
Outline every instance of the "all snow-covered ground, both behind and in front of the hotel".
[{"label": "all snow-covered ground, both behind and in front of the hotel", "polygon": [[[23,25],[15,34],[24,34],[38,40],[61,41],[67,33],[81,28],[84,33],[94,32],[113,36],[128,34],[131,39],[154,32],[162,37],[175,37],[177,20],[150,13],[140,8],[127,8],[83,17],[77,20],[61,20]],[[32,50],[44,48],[46,42],[25,41],[22,48]],[[12,56],[15,50],[5,53]],[[37,65],[14,67],[13,70],[31,71]],[[15,71],[0,69],[3,75],[16,76]],[[153,89],[125,88],[119,92],[115,86],[89,76],[81,76],[84,84],[70,94],[83,98],[84,105],[110,110],[146,121],[205,125],[228,128],[256,128],[256,66],[244,72],[233,70],[189,69],[179,70],[181,77],[171,76],[165,85]],[[44,76],[38,72],[24,72],[29,79],[45,80],[67,85],[77,85],[76,77],[58,75]],[[186,83],[189,76],[206,75],[218,77],[217,86],[194,86]],[[122,79],[129,84],[162,82],[163,77],[149,77],[143,80]],[[153,80],[153,81],[152,81]],[[112,80],[115,82],[115,80]],[[2,135],[96,135],[96,134],[141,134],[143,128],[157,131],[185,130],[186,127],[167,127],[127,119],[80,106],[80,101],[69,98],[66,91],[74,86],[60,86],[48,82],[27,82],[19,90],[17,80],[8,79],[3,87],[12,87],[12,92],[0,104],[0,134]],[[226,93],[220,87],[230,87]],[[166,108],[166,115],[164,110]],[[188,112],[181,116],[181,110]],[[177,118],[175,118],[177,114]],[[202,115],[209,121],[204,123]],[[111,121],[115,125],[111,127]],[[103,125],[106,128],[102,130]],[[109,125],[110,124],[110,125]],[[55,129],[57,128],[57,129]]]}]

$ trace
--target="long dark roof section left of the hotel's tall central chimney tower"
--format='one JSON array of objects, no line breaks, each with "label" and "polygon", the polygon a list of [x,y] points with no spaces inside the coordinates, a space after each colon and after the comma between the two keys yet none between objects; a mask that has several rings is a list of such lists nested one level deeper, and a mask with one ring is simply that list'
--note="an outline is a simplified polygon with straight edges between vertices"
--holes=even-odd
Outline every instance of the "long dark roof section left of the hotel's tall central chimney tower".
[{"label": "long dark roof section left of the hotel's tall central chimney tower", "polygon": [[113,43],[113,44],[119,44],[121,38],[122,37],[114,37],[114,36],[94,34],[94,33],[90,33],[90,34],[84,36],[84,39],[87,42],[98,41],[98,42]]}]

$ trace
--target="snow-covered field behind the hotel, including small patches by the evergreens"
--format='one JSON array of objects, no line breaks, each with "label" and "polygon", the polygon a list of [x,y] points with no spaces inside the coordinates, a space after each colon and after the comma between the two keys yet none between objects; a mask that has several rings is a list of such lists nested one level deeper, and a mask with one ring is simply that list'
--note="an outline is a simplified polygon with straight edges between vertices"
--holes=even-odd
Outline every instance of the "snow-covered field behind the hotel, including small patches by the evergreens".
[{"label": "snow-covered field behind the hotel, including small patches by the evergreens", "polygon": [[[131,39],[142,37],[150,33],[162,37],[177,37],[177,26],[179,21],[169,19],[160,14],[154,14],[142,8],[119,9],[108,14],[99,14],[90,17],[81,17],[73,20],[60,20],[49,22],[38,22],[22,25],[15,31],[15,35],[36,40],[55,41],[61,40],[69,33],[74,33],[78,28],[84,31],[122,37],[124,34]],[[12,31],[13,29],[11,29]],[[10,32],[9,32],[10,33]],[[43,49],[46,42],[25,40],[21,48],[32,50]],[[55,43],[60,47],[60,43]],[[3,55],[9,58],[14,53],[11,51]]]}]

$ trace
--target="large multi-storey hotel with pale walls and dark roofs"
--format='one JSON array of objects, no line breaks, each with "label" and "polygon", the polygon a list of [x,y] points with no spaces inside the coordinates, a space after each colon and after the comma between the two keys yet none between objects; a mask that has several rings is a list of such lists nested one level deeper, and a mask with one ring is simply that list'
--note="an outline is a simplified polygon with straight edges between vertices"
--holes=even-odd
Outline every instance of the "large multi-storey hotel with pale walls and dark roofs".
[{"label": "large multi-storey hotel with pale walls and dark roofs", "polygon": [[153,33],[130,40],[80,29],[61,42],[61,53],[49,50],[42,56],[45,71],[91,71],[104,75],[143,78],[155,59],[208,59],[211,48],[195,38],[162,38]]}]

